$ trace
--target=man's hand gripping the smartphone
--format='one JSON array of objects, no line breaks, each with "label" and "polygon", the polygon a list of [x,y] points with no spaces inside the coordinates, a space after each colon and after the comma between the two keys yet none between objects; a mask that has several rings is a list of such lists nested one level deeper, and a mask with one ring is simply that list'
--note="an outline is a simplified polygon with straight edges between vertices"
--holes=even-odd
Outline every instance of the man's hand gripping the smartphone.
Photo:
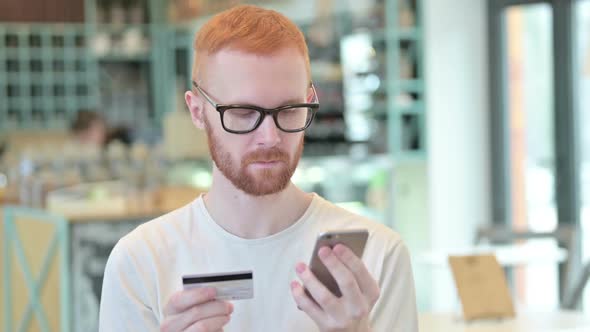
[{"label": "man's hand gripping the smartphone", "polygon": [[[314,320],[322,332],[368,332],[369,313],[379,299],[379,285],[363,261],[349,248],[338,244],[334,249],[322,247],[318,255],[332,274],[342,293],[336,297],[304,263],[295,267],[305,288],[291,283],[297,306]],[[313,297],[311,299],[306,293]],[[315,301],[314,301],[315,300]]]}]

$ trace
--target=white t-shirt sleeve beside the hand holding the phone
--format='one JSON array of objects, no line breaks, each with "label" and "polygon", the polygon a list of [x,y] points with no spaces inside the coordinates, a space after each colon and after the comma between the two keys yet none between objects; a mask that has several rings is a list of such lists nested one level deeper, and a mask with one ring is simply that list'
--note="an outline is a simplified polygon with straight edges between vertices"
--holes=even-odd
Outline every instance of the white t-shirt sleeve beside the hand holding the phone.
[{"label": "white t-shirt sleeve beside the hand holding the phone", "polygon": [[384,255],[379,285],[381,295],[371,312],[372,330],[417,332],[418,314],[412,264],[403,242],[398,242]]}]

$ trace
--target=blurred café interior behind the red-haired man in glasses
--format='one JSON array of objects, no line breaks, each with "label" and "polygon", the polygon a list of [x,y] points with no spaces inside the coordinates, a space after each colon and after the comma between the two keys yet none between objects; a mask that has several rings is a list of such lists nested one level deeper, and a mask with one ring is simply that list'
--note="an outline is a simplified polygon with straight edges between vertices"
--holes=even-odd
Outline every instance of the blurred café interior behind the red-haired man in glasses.
[{"label": "blurred caf\u00e9 interior behind the red-haired man in glasses", "polygon": [[517,311],[590,314],[590,0],[0,0],[1,329],[96,330],[117,240],[207,190],[193,37],[241,3],[308,42],[294,182],[401,233],[421,312],[492,251]]}]

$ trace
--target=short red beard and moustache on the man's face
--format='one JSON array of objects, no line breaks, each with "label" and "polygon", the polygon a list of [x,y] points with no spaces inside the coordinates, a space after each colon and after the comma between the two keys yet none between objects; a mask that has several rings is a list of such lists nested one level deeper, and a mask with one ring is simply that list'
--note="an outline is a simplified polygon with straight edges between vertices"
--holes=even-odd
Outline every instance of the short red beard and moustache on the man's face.
[{"label": "short red beard and moustache on the man's face", "polygon": [[[209,121],[205,117],[205,132],[211,158],[221,173],[238,189],[252,196],[276,194],[289,185],[295,173],[299,159],[303,153],[303,136],[298,143],[293,158],[279,148],[258,149],[247,153],[239,165],[231,158],[223,144],[211,131]],[[270,168],[252,169],[249,165],[258,162],[277,162]]]}]

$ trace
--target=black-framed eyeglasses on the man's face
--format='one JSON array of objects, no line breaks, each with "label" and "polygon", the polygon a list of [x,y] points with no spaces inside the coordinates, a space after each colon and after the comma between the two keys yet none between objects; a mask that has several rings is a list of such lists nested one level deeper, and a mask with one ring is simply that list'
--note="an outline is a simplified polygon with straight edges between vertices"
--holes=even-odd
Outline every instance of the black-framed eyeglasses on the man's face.
[{"label": "black-framed eyeglasses on the man's face", "polygon": [[221,125],[227,132],[247,134],[260,126],[267,115],[271,115],[275,125],[287,133],[296,133],[309,127],[320,104],[313,83],[310,83],[314,94],[313,103],[299,103],[284,105],[277,108],[262,108],[254,105],[219,104],[193,81],[193,86],[219,112]]}]

